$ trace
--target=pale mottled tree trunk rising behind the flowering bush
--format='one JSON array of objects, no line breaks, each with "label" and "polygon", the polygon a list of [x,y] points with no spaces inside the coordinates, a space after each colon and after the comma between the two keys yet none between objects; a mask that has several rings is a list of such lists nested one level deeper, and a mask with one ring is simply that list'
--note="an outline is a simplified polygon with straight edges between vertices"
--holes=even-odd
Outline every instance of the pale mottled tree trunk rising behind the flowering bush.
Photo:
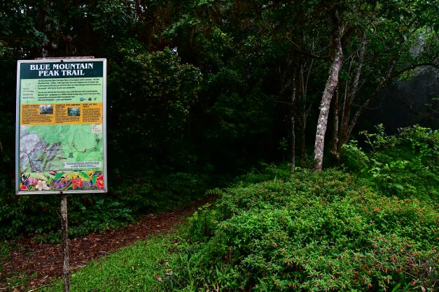
[{"label": "pale mottled tree trunk rising behind the flowering bush", "polygon": [[337,9],[332,13],[333,23],[333,64],[330,66],[328,80],[326,81],[325,90],[320,103],[320,114],[317,122],[316,142],[314,144],[314,170],[320,171],[323,167],[323,149],[325,147],[325,133],[328,126],[328,113],[330,108],[330,100],[334,95],[338,84],[338,73],[342,66],[343,51],[340,41],[340,22]]}]

